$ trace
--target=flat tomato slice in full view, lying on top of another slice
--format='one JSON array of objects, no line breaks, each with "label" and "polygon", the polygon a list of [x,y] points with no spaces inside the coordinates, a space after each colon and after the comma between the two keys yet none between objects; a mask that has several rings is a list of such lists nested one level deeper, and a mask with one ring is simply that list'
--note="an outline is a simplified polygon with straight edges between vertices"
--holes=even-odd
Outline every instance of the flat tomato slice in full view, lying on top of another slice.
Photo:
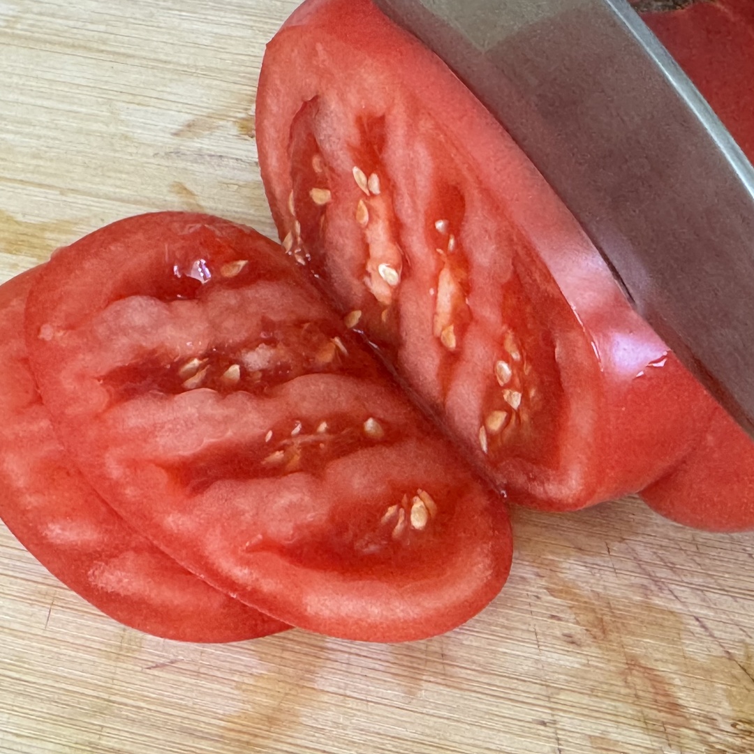
[{"label": "flat tomato slice in full view, lying on top of another slice", "polygon": [[66,449],[210,584],[349,639],[441,633],[507,578],[507,511],[277,244],[156,213],[60,250],[29,294]]}]

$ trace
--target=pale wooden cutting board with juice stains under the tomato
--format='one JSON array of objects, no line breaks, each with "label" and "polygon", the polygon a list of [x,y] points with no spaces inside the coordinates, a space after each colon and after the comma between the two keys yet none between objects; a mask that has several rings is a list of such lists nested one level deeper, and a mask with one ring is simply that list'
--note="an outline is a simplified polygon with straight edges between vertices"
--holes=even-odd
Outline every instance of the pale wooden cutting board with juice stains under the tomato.
[{"label": "pale wooden cutting board with juice stains under the tomato", "polygon": [[[253,104],[295,0],[0,0],[0,276],[121,216],[274,234]],[[731,472],[734,473],[734,472]],[[754,752],[754,535],[516,510],[510,582],[431,641],[118,626],[0,530],[0,752]]]}]

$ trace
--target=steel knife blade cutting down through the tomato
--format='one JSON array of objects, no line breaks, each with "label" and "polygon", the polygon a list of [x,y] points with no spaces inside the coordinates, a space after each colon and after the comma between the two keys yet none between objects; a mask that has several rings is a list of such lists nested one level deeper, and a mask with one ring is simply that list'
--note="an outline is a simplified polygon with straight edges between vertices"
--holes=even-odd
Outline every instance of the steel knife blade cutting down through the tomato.
[{"label": "steel knife blade cutting down through the tomato", "polygon": [[754,167],[633,8],[374,2],[513,136],[642,317],[754,437]]}]

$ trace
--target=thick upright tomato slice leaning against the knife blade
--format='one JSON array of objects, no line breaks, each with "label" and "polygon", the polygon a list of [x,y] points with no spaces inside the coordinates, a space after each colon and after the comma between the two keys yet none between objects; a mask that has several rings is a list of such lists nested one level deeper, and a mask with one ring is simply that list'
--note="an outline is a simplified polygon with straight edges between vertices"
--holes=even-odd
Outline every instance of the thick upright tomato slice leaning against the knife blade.
[{"label": "thick upright tomato slice leaning against the knife blade", "polygon": [[256,108],[280,238],[481,470],[554,510],[673,467],[694,380],[523,152],[369,0],[310,0]]}]

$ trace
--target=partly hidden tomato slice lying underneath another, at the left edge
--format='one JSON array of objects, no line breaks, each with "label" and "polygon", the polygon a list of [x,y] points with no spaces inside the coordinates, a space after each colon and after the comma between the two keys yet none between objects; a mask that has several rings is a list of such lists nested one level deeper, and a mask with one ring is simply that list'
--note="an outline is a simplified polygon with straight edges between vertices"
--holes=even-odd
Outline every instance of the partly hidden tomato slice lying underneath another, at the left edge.
[{"label": "partly hidden tomato slice lying underneath another, at the left edge", "polygon": [[41,268],[0,287],[0,516],[60,581],[127,626],[186,642],[287,628],[213,589],[136,534],[57,441],[26,358],[23,313]]}]

